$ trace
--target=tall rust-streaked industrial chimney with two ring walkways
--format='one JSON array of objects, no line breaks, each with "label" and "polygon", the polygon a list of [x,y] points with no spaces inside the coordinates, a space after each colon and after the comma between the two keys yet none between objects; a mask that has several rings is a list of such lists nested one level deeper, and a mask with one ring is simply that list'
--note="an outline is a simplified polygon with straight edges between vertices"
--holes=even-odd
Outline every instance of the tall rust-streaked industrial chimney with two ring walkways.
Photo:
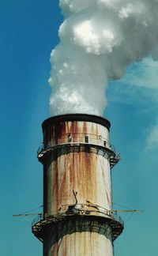
[{"label": "tall rust-streaked industrial chimney with two ring walkways", "polygon": [[110,122],[96,115],[58,115],[43,122],[43,214],[32,232],[43,256],[113,256],[122,220],[113,214],[111,168],[119,156]]}]

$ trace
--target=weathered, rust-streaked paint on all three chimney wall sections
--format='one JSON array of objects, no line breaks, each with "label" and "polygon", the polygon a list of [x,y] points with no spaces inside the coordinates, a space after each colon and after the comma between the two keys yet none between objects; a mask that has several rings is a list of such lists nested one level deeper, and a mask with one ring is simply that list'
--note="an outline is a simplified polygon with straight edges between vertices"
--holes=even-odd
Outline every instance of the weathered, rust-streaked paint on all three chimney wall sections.
[{"label": "weathered, rust-streaked paint on all three chimney wall sections", "polygon": [[[88,144],[109,145],[109,130],[100,123],[77,120],[54,123],[52,119],[43,127],[45,147],[85,143],[86,136]],[[43,211],[48,215],[54,215],[59,209],[67,209],[68,205],[75,204],[73,191],[77,192],[77,204],[85,205],[89,201],[92,205],[111,210],[111,168],[109,160],[100,154],[83,150],[71,152],[68,149],[49,152],[43,161],[43,183]],[[73,225],[77,227],[77,221]],[[64,228],[65,235],[59,240],[55,239],[56,233]],[[47,228],[43,239],[43,255],[112,256],[109,229],[107,225],[107,233],[104,235],[90,231],[71,233],[71,221],[66,226],[57,227],[56,232]]]}]

